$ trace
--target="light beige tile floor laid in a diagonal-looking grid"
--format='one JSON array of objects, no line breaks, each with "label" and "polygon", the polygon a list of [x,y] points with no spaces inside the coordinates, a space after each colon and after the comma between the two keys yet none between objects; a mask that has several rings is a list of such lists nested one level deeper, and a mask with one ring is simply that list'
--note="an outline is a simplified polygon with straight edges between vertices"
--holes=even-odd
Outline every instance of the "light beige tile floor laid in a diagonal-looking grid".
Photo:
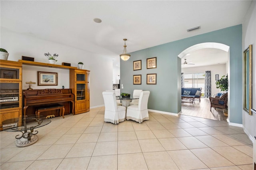
[{"label": "light beige tile floor laid in a diagonal-looking grid", "polygon": [[252,170],[252,142],[240,127],[150,112],[143,123],[104,122],[104,107],[52,118],[39,140],[16,147],[0,132],[1,170]]}]

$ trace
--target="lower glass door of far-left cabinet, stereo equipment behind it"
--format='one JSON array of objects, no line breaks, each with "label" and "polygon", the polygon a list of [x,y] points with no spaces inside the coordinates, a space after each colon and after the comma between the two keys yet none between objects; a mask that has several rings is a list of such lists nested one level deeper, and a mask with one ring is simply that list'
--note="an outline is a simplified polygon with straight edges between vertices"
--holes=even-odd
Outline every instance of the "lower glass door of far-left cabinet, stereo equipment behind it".
[{"label": "lower glass door of far-left cabinet, stereo equipment behind it", "polygon": [[20,83],[0,83],[0,108],[8,109],[19,107]]}]

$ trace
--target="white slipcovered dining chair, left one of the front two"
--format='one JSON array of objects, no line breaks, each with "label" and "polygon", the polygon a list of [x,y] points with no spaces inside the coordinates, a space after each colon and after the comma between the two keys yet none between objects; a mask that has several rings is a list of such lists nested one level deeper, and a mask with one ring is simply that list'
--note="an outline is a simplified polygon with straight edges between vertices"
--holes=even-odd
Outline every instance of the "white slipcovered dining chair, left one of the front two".
[{"label": "white slipcovered dining chair, left one of the front two", "polygon": [[105,104],[104,121],[118,124],[125,120],[126,107],[116,105],[116,95],[114,92],[102,92]]}]

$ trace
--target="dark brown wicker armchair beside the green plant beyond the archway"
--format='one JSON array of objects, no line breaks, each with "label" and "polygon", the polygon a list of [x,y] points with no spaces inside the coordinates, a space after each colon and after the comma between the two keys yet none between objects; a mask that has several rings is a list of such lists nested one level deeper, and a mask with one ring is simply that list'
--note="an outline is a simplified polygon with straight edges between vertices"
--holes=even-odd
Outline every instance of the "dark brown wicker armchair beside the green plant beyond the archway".
[{"label": "dark brown wicker armchair beside the green plant beyond the archway", "polygon": [[220,97],[216,96],[216,97],[209,97],[210,99],[210,111],[212,109],[212,107],[214,107],[216,109],[217,108],[221,108],[221,109],[226,109],[228,108],[228,92],[223,93]]}]

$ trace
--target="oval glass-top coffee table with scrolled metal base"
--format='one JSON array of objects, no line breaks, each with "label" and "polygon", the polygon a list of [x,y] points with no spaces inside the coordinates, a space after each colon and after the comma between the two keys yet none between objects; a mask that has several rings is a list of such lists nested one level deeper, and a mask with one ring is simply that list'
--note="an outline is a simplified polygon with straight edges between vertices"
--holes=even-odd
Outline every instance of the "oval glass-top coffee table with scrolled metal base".
[{"label": "oval glass-top coffee table with scrolled metal base", "polygon": [[34,128],[39,128],[48,125],[51,122],[50,119],[46,119],[43,115],[26,115],[19,118],[7,119],[2,121],[3,130],[7,132],[22,132],[15,136],[16,146],[24,147],[36,143],[38,137],[34,132]]}]

